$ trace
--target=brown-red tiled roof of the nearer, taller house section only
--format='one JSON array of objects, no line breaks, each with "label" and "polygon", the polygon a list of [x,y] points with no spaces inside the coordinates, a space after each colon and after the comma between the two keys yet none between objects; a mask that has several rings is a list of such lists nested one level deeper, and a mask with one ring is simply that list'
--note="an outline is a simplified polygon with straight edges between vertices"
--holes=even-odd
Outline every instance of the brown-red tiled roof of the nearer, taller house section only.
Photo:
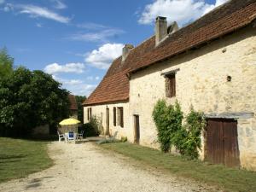
[{"label": "brown-red tiled roof of the nearer, taller house section only", "polygon": [[133,61],[130,72],[177,55],[247,26],[256,18],[256,0],[233,0],[173,33],[152,51]]}]

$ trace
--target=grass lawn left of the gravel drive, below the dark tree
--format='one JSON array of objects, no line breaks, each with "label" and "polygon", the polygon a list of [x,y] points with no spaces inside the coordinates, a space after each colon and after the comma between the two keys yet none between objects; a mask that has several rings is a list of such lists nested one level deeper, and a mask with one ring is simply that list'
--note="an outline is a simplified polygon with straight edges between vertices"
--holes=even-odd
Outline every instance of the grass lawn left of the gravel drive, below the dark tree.
[{"label": "grass lawn left of the gravel drive, below the dark tree", "polygon": [[0,137],[0,183],[52,165],[47,142]]}]

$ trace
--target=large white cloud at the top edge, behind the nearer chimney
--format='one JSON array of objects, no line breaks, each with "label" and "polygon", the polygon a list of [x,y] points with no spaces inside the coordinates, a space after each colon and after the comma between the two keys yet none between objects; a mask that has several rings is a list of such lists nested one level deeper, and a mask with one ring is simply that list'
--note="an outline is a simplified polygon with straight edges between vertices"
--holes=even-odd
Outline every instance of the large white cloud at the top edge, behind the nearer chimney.
[{"label": "large white cloud at the top edge, behind the nearer chimney", "polygon": [[155,0],[146,5],[138,22],[147,25],[153,23],[157,16],[166,16],[168,22],[175,20],[183,26],[226,1],[217,0],[215,4],[208,4],[205,0]]}]

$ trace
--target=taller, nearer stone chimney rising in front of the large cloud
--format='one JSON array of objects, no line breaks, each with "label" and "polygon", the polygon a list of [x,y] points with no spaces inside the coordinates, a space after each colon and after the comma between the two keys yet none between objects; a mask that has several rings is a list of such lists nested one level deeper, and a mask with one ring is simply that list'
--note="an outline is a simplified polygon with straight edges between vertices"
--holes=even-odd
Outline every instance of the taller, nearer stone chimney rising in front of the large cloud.
[{"label": "taller, nearer stone chimney rising in front of the large cloud", "polygon": [[166,17],[158,16],[155,19],[155,45],[167,36],[167,20]]}]

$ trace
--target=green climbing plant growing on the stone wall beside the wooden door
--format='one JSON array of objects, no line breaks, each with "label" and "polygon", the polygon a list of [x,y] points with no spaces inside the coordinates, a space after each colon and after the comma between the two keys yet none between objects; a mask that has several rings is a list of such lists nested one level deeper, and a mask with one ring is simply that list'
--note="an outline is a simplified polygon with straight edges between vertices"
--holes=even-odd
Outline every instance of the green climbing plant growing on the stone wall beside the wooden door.
[{"label": "green climbing plant growing on the stone wall beside the wooden door", "polygon": [[[167,105],[165,100],[159,100],[153,110],[153,119],[158,131],[158,141],[163,152],[169,152],[174,146],[179,154],[190,159],[197,159],[198,149],[201,149],[201,131],[205,127],[203,113],[193,108],[183,117],[178,102]],[[184,124],[183,124],[183,119]]]}]

